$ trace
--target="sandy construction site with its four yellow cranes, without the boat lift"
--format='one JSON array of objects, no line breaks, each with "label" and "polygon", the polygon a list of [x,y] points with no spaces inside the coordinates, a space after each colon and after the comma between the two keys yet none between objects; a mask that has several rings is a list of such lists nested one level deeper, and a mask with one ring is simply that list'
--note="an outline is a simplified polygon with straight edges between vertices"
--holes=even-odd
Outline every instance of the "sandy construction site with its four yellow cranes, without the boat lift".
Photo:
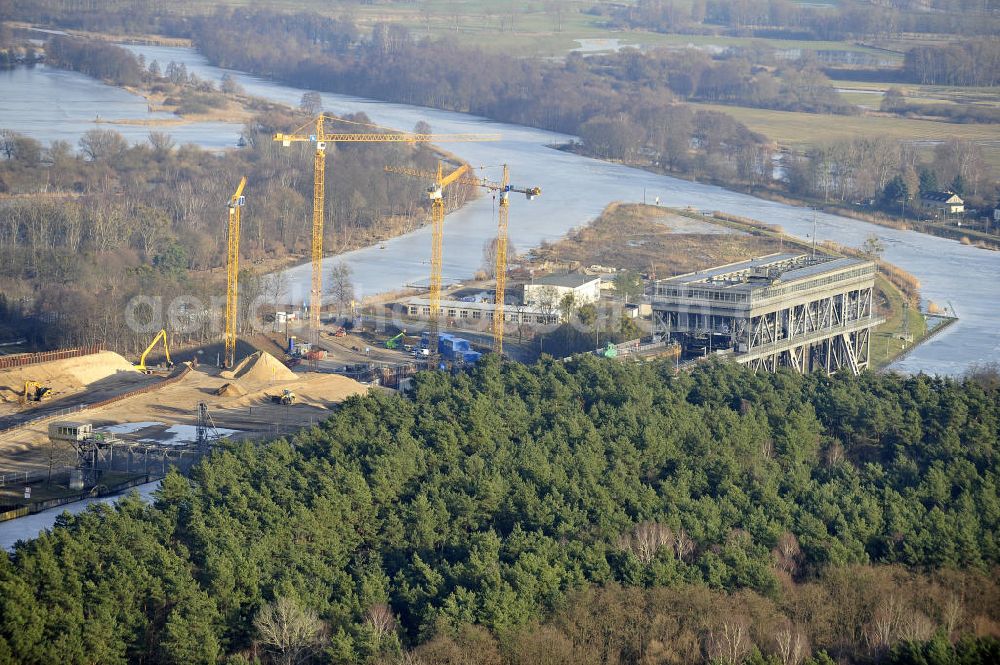
[{"label": "sandy construction site with its four yellow cranes, without the boat lift", "polygon": [[[226,304],[224,352],[216,365],[174,364],[171,334],[153,336],[137,362],[101,348],[0,355],[0,515],[3,519],[108,493],[162,477],[169,468],[186,471],[201,455],[223,440],[270,439],[324,419],[344,399],[370,386],[403,389],[418,368],[437,366],[441,293],[443,190],[453,183],[478,187],[500,198],[497,265],[506,266],[507,205],[512,192],[531,199],[535,188],[510,184],[506,167],[499,182],[477,178],[466,164],[447,175],[395,169],[389,173],[427,179],[434,229],[430,269],[432,316],[421,351],[404,344],[403,333],[379,344],[372,354],[369,339],[345,327],[324,330],[322,259],[326,148],[335,142],[495,141],[498,135],[432,135],[395,132],[331,133],[320,114],[300,132],[276,134],[283,146],[309,142],[314,147],[312,284],[308,324],[299,336],[257,335],[250,353],[240,320],[241,217],[247,178],[241,178],[227,202]],[[353,123],[358,124],[358,123]],[[374,127],[374,126],[373,126]],[[350,129],[355,130],[356,127]],[[220,222],[223,220],[220,219]],[[502,275],[506,270],[500,271]],[[504,302],[504,279],[497,280],[498,302]],[[501,319],[502,321],[502,319]],[[347,327],[352,327],[349,323]],[[360,328],[360,327],[359,327]],[[496,333],[496,331],[494,331]],[[322,338],[322,339],[321,339]],[[502,351],[502,325],[493,349]],[[471,349],[463,360],[474,362]],[[240,357],[240,355],[244,357]],[[278,357],[275,357],[275,356]],[[280,357],[280,360],[279,360]],[[478,354],[476,354],[478,358]],[[154,366],[151,358],[158,359]]]}]

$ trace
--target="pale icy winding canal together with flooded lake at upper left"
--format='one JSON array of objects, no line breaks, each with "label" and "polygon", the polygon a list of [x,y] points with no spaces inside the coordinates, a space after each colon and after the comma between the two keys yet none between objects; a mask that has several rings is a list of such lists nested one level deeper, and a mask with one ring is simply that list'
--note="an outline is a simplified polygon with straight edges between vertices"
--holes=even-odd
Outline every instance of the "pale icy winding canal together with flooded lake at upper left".
[{"label": "pale icy winding canal together with flooded lake at upper left", "polygon": [[[219,81],[227,73],[207,64],[193,49],[135,46],[147,61],[161,68],[170,61],[184,63],[199,77]],[[298,104],[307,90],[279,85],[240,72],[228,72],[250,94]],[[363,111],[374,122],[397,129],[412,129],[419,121],[430,123],[437,133],[500,132],[495,143],[444,144],[473,166],[508,164],[517,186],[539,186],[542,196],[534,201],[515,199],[511,205],[510,237],[518,251],[543,241],[554,241],[574,227],[586,224],[612,201],[654,201],[667,206],[693,206],[779,224],[800,238],[813,232],[813,213],[808,209],[765,201],[720,187],[656,175],[619,164],[580,157],[549,147],[572,137],[517,125],[493,122],[462,113],[391,104],[347,95],[323,94],[327,111],[341,114]],[[18,68],[0,72],[0,128],[13,129],[40,140],[61,138],[73,143],[94,119],[155,119],[145,102],[88,77],[46,67]],[[145,140],[148,128],[114,126],[132,141]],[[157,128],[159,129],[159,128]],[[197,143],[208,148],[234,145],[238,125],[196,123],[168,130],[178,143]],[[311,168],[304,160],[303,169]],[[387,176],[389,177],[389,176]],[[247,189],[253,196],[253,183]],[[1000,358],[1000,253],[961,245],[918,233],[896,231],[864,222],[817,213],[816,236],[845,245],[860,245],[869,234],[885,244],[885,258],[915,274],[925,299],[954,308],[960,321],[893,365],[902,372],[959,375],[977,363]],[[334,221],[334,224],[336,222]],[[495,201],[481,198],[448,216],[445,231],[444,272],[446,279],[466,278],[482,263],[483,244],[496,233]],[[356,289],[371,294],[398,289],[407,283],[426,282],[430,263],[428,227],[383,245],[349,252],[326,260],[327,267],[344,261],[354,271]],[[290,295],[305,301],[309,292],[307,265],[287,271]],[[150,488],[147,491],[152,491]],[[82,510],[76,504],[70,510]],[[9,547],[19,538],[34,535],[52,525],[60,510],[0,524],[0,545]]]}]

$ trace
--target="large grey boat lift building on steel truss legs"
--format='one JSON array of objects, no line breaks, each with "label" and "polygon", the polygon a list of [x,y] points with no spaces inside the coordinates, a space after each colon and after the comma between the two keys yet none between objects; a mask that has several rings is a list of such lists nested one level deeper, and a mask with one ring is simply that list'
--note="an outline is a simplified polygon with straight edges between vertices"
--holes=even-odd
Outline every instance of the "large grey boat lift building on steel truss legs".
[{"label": "large grey boat lift building on steel truss legs", "polygon": [[868,367],[871,330],[881,323],[875,272],[862,259],[772,254],[659,280],[653,331],[688,357],[857,374]]}]

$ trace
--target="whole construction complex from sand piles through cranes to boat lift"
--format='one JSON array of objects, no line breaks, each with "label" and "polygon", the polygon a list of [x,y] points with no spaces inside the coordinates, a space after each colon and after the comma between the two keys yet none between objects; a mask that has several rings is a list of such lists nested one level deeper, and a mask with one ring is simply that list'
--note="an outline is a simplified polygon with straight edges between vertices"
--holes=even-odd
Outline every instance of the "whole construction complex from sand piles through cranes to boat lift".
[{"label": "whole construction complex from sand piles through cranes to boat lift", "polygon": [[[609,233],[620,236],[616,242],[624,243],[638,261],[622,268],[624,273],[638,275],[636,267],[648,264],[646,280],[638,281],[638,302],[630,303],[627,294],[602,293],[628,280],[615,274],[617,268],[597,264],[582,272],[528,270],[508,289],[508,277],[515,274],[507,238],[511,195],[531,201],[542,190],[512,185],[506,165],[497,180],[475,175],[464,163],[442,161],[436,172],[386,165],[388,174],[428,183],[425,202],[432,234],[427,288],[402,301],[376,299],[374,305],[367,303],[367,311],[352,300],[346,313],[338,310],[338,316],[324,320],[330,304],[323,285],[327,144],[497,138],[385,131],[337,134],[326,131],[328,120],[339,119],[319,115],[300,132],[274,136],[283,146],[310,142],[315,150],[308,304],[288,305],[288,311],[275,307],[270,332],[248,325],[240,314],[241,217],[253,192],[244,177],[227,202],[227,218],[220,215],[228,244],[225,326],[217,355],[207,347],[189,348],[190,360],[175,364],[170,353],[174,340],[166,329],[152,336],[135,362],[99,347],[0,355],[0,519],[120,491],[160,478],[170,468],[186,471],[227,440],[292,434],[319,423],[353,395],[373,389],[405,393],[421,369],[461,371],[485,353],[532,361],[541,353],[539,331],[578,323],[576,311],[585,307],[595,312],[595,321],[601,316],[596,312],[614,311],[613,325],[628,329],[631,336],[607,341],[598,333],[598,348],[584,346],[573,352],[644,361],[705,357],[721,348],[734,360],[764,371],[791,366],[857,373],[868,366],[869,336],[879,323],[873,310],[874,264],[780,254],[656,281],[656,260],[666,244],[676,242],[677,231],[692,237],[694,231],[700,234],[698,243],[716,250],[724,246],[719,251],[729,253],[772,249],[774,242],[720,236],[711,224],[674,213],[664,218],[676,227],[664,238],[671,233],[664,220],[639,218],[648,210],[612,211],[635,217],[632,233],[621,232],[620,220]],[[478,188],[496,197],[497,232],[492,279],[445,288],[445,192],[453,186]],[[562,249],[576,251],[574,243],[582,247],[587,234],[600,228],[577,233]],[[702,235],[711,242],[705,243]],[[611,246],[606,245],[605,250]],[[578,256],[600,263],[612,258],[606,253]],[[550,256],[546,263],[558,258]],[[677,266],[661,267],[676,272]],[[644,293],[647,282],[655,289],[651,300]],[[621,306],[607,307],[609,303]],[[291,330],[290,322],[295,324]],[[516,339],[505,347],[505,336],[512,334]]]}]

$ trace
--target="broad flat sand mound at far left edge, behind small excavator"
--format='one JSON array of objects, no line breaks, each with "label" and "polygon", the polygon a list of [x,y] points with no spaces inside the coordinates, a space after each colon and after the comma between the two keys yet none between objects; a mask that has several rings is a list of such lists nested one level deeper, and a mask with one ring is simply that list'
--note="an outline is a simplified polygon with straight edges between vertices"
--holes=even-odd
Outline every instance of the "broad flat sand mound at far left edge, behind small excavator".
[{"label": "broad flat sand mound at far left edge, behind small excavator", "polygon": [[0,400],[16,401],[25,381],[38,381],[53,394],[73,392],[98,382],[142,381],[144,376],[128,360],[112,351],[0,370]]}]

